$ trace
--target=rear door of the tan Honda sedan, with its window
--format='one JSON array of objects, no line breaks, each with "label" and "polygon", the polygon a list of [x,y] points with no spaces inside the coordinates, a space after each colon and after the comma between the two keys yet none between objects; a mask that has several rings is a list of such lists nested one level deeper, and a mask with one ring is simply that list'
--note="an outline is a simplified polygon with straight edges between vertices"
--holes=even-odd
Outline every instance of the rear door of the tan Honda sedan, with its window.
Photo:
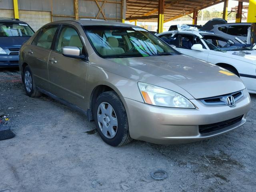
[{"label": "rear door of the tan Honda sedan, with its window", "polygon": [[48,83],[48,58],[58,25],[46,26],[38,33],[31,45],[26,46],[26,61],[32,71],[34,81],[40,88],[50,91]]}]

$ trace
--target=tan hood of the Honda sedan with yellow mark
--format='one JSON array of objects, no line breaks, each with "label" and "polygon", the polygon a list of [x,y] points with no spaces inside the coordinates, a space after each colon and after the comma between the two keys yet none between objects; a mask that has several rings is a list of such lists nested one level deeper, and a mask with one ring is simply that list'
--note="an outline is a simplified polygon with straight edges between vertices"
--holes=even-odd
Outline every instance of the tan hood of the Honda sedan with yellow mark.
[{"label": "tan hood of the Honda sedan with yellow mark", "polygon": [[[196,99],[228,94],[245,88],[240,78],[230,75],[224,68],[186,55],[108,60],[120,64],[118,74],[122,76],[174,91],[177,90],[176,85]],[[116,68],[112,70],[117,73]]]}]

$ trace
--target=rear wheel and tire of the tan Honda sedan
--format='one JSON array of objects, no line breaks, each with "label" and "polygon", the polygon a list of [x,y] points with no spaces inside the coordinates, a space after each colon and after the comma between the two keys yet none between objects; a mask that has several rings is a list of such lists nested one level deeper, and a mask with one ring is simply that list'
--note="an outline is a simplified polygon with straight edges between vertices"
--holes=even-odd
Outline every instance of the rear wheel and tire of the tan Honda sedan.
[{"label": "rear wheel and tire of the tan Honda sedan", "polygon": [[22,76],[23,85],[26,91],[26,94],[30,97],[40,97],[42,95],[41,92],[36,90],[36,84],[34,82],[34,78],[29,66],[24,68],[23,76]]}]

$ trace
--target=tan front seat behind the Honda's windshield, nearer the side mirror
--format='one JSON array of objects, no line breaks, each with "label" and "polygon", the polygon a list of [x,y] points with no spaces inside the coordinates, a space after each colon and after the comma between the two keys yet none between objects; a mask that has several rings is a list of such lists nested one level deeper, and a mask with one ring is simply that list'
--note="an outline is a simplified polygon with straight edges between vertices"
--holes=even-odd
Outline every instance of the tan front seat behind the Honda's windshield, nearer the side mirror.
[{"label": "tan front seat behind the Honda's windshield, nearer the side mirror", "polygon": [[108,42],[109,47],[101,48],[100,54],[102,54],[102,55],[119,55],[119,54],[123,54],[124,53],[124,49],[118,47],[119,46],[119,42],[118,42],[117,38],[115,38],[115,37],[108,37],[106,39],[106,42]]}]

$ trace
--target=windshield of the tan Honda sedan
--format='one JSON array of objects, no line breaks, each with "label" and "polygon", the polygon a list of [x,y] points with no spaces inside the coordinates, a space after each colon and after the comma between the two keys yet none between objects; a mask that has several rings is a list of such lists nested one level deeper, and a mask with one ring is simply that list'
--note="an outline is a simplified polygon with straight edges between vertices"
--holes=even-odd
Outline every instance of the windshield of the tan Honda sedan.
[{"label": "windshield of the tan Honda sedan", "polygon": [[179,54],[143,28],[85,26],[86,35],[103,58],[147,57]]}]

